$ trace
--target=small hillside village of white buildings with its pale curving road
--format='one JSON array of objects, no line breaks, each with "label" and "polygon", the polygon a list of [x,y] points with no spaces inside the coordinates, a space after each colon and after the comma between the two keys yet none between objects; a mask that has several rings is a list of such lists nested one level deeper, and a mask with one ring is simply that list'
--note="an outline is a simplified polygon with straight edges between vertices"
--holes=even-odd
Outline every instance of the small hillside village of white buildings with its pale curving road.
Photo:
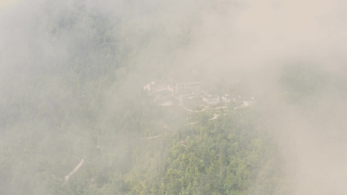
[{"label": "small hillside village of white buildings with its pale curving road", "polygon": [[242,97],[238,94],[211,94],[203,90],[201,82],[168,85],[165,82],[151,81],[143,86],[143,89],[156,104],[171,105],[177,101],[180,106],[189,111],[226,107],[230,103],[234,103],[235,109],[237,109],[251,106],[256,102],[254,97]]}]

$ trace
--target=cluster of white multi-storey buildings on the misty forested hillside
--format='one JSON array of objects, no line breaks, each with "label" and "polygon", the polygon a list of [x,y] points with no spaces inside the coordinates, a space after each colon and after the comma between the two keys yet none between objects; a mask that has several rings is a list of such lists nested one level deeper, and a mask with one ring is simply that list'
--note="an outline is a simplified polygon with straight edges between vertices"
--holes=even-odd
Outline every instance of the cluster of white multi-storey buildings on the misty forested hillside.
[{"label": "cluster of white multi-storey buildings on the misty forested hillside", "polygon": [[167,85],[163,82],[152,81],[144,86],[144,91],[148,96],[154,97],[155,101],[167,101],[170,98],[179,98],[185,96],[198,96],[202,97],[199,105],[202,107],[216,107],[222,106],[230,102],[241,104],[241,106],[251,106],[255,103],[255,98],[241,97],[231,94],[224,94],[223,96],[206,94],[201,90],[201,82],[191,83],[176,83],[175,85]]}]

